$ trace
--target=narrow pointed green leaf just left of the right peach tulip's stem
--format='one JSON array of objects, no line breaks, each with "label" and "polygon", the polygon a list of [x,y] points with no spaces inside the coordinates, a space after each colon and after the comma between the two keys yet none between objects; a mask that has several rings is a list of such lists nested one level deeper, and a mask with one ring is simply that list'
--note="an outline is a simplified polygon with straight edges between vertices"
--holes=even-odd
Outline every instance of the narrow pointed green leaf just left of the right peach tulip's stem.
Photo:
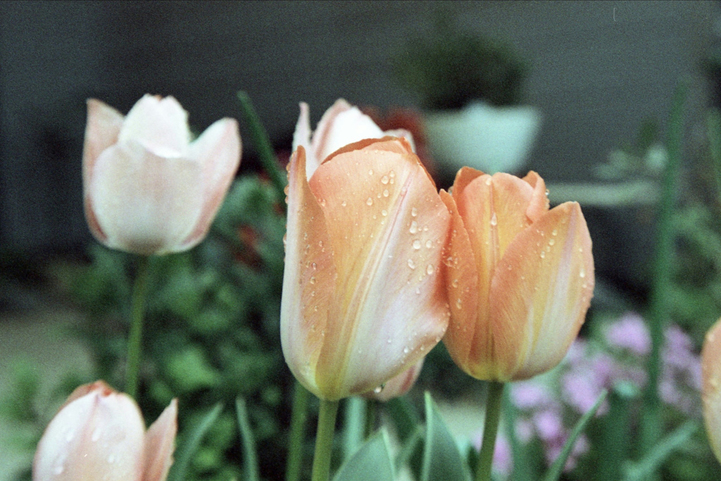
[{"label": "narrow pointed green leaf just left of the right peach tulip's stem", "polygon": [[421,481],[470,481],[468,466],[456,440],[438,413],[438,407],[425,393],[425,446]]}]

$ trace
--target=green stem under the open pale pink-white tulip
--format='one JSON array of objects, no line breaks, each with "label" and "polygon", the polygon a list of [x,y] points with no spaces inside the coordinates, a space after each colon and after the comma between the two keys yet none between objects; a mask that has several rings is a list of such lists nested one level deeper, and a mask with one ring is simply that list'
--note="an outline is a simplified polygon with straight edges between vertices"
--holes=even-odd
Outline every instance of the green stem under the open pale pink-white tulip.
[{"label": "green stem under the open pale pink-white tulip", "polygon": [[149,258],[138,256],[136,279],[133,284],[133,299],[131,306],[131,332],[128,335],[128,370],[125,373],[125,392],[130,397],[138,397],[138,379],[140,377],[140,364],[143,341],[143,314],[148,289]]}]

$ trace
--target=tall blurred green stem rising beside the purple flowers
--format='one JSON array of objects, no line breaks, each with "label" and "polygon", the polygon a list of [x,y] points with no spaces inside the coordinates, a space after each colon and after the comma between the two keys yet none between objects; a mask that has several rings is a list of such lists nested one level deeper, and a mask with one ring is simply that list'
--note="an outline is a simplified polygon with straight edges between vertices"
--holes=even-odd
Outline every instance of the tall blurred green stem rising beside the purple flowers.
[{"label": "tall blurred green stem rising beside the purple flowers", "polygon": [[674,232],[671,223],[676,205],[678,170],[681,164],[681,138],[684,127],[684,100],[686,84],[682,81],[676,88],[668,123],[668,163],[663,172],[661,199],[656,218],[656,243],[651,276],[649,306],[651,353],[648,357],[648,384],[643,398],[641,431],[641,454],[646,454],[658,442],[661,425],[658,378],[661,370],[663,332],[668,323],[668,290],[671,284],[671,260],[673,259]]}]

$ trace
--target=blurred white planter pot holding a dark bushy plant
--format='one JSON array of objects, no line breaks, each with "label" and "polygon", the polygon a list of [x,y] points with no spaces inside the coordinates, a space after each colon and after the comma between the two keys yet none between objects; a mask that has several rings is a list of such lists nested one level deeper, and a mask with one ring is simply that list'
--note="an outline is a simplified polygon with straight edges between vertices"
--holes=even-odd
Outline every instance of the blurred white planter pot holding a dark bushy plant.
[{"label": "blurred white planter pot holding a dark bushy plant", "polygon": [[518,172],[541,125],[530,106],[492,107],[472,102],[461,110],[425,113],[433,158],[446,169],[464,165],[487,173]]}]

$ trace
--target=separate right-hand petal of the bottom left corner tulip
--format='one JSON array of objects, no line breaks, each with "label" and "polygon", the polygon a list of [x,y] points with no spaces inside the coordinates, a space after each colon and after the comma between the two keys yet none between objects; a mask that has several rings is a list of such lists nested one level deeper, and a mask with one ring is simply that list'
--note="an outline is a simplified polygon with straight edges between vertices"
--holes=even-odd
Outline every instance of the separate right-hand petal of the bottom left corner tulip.
[{"label": "separate right-hand petal of the bottom left corner tulip", "polygon": [[164,481],[173,464],[177,434],[177,400],[172,400],[150,426],[143,444],[143,480]]}]

